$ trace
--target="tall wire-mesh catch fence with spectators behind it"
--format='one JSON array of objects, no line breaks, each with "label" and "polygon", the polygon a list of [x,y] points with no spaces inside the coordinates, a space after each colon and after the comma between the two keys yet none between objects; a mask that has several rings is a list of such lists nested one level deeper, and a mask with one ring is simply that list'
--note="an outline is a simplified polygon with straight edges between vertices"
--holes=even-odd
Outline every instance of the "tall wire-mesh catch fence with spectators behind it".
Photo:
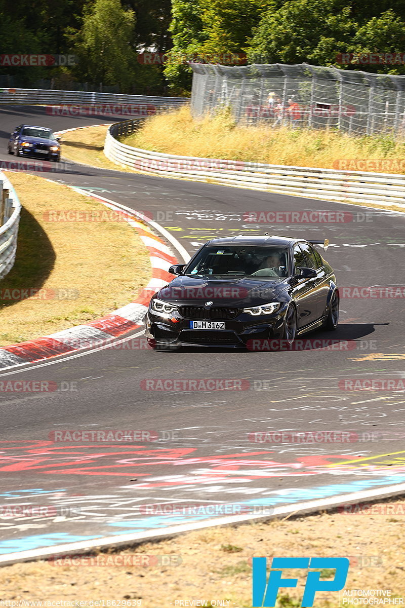
[{"label": "tall wire-mesh catch fence with spectators behind it", "polygon": [[194,116],[230,107],[238,123],[405,135],[405,76],[307,63],[190,63]]}]

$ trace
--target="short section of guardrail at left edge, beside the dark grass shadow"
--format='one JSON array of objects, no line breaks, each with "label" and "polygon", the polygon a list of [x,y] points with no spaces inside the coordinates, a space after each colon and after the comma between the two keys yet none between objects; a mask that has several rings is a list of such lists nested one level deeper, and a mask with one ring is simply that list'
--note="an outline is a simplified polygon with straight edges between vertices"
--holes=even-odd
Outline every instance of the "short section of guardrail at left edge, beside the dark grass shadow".
[{"label": "short section of guardrail at left edge, beside the dark grass shadow", "polygon": [[0,172],[0,279],[13,268],[21,204],[9,180]]}]

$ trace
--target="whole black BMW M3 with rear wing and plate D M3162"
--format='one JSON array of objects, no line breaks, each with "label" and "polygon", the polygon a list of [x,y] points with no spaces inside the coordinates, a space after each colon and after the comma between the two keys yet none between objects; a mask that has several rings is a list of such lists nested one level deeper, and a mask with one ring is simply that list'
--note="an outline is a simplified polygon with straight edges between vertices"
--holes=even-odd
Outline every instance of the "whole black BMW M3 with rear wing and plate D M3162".
[{"label": "whole black BMW M3 with rear wing and plate D M3162", "polygon": [[288,237],[215,238],[149,303],[145,335],[157,350],[182,346],[250,348],[315,330],[335,330],[339,291],[313,247]]}]

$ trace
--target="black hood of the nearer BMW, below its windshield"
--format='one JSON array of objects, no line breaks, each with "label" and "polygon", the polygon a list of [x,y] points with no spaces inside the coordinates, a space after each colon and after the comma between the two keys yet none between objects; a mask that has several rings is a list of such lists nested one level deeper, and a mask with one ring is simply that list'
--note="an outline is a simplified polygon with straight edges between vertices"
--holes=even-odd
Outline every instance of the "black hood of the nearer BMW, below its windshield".
[{"label": "black hood of the nearer BMW, below its windshield", "polygon": [[287,277],[264,281],[257,277],[199,278],[180,276],[160,289],[156,297],[182,305],[257,306],[273,300],[283,300],[288,288]]}]

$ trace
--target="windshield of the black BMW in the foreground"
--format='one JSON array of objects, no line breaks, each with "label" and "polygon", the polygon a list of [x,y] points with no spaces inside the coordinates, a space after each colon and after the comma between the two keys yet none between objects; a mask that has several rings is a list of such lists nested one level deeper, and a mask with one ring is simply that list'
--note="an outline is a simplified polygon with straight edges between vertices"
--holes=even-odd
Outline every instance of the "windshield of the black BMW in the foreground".
[{"label": "windshield of the black BMW in the foreground", "polygon": [[260,277],[288,275],[287,249],[279,247],[208,246],[185,269],[185,274],[215,277]]}]

